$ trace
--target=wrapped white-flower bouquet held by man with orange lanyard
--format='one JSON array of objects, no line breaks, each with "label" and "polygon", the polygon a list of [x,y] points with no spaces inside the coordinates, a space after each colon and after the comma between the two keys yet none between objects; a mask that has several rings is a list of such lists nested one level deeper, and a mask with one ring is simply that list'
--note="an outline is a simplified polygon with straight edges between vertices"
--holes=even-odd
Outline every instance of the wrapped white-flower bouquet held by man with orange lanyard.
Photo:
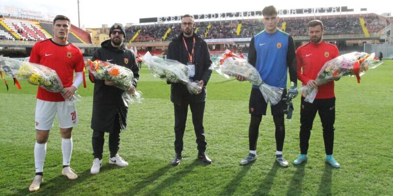
[{"label": "wrapped white-flower bouquet held by man with orange lanyard", "polygon": [[188,67],[176,60],[162,59],[147,52],[143,55],[142,61],[154,77],[165,79],[171,83],[185,84],[191,94],[197,94],[202,89],[198,81],[190,81]]}]

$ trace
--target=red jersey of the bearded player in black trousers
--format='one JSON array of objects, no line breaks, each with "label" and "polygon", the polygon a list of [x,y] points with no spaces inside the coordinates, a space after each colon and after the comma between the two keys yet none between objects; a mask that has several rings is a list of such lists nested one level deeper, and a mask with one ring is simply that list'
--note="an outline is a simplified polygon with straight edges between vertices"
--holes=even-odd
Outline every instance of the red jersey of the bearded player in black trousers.
[{"label": "red jersey of the bearded player in black trousers", "polygon": [[[310,79],[315,80],[323,65],[339,55],[335,45],[326,42],[314,44],[309,42],[296,50],[296,61],[298,64],[298,79],[306,85]],[[335,97],[335,83],[328,82],[318,86],[315,98]]]}]

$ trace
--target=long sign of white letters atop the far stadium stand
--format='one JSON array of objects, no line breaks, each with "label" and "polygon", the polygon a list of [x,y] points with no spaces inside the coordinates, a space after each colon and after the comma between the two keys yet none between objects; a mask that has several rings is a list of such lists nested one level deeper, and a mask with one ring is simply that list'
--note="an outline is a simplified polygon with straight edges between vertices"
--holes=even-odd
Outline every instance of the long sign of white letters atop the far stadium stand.
[{"label": "long sign of white letters atop the far stadium stand", "polygon": [[[319,14],[319,13],[340,13],[353,12],[354,9],[348,9],[347,6],[337,7],[316,7],[316,8],[302,8],[302,9],[281,9],[278,10],[279,16],[298,15],[298,14]],[[196,14],[196,20],[214,20],[214,19],[235,19],[243,17],[262,17],[262,11],[247,11],[247,12],[225,12],[225,13],[210,13],[210,14]],[[175,22],[181,21],[181,16],[165,16],[153,18],[141,18],[139,23],[157,23],[157,22]]]}]

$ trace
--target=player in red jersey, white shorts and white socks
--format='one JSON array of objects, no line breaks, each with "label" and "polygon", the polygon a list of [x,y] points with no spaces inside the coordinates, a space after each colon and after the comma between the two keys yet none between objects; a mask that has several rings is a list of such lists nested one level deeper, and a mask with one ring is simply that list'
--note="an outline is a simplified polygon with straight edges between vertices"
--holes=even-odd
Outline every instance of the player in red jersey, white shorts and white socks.
[{"label": "player in red jersey, white shorts and white socks", "polygon": [[[84,59],[82,51],[67,41],[70,29],[70,19],[61,15],[56,16],[53,22],[54,37],[35,43],[30,54],[29,62],[38,63],[55,70],[64,86],[62,94],[48,92],[38,87],[35,108],[35,177],[29,187],[30,192],[37,191],[43,182],[46,143],[56,114],[62,138],[62,174],[69,179],[78,178],[78,175],[70,168],[72,153],[71,131],[72,127],[78,123],[78,116],[75,105],[67,105],[65,99],[72,98],[83,81]],[[76,78],[73,82],[74,71],[76,72]]]}]

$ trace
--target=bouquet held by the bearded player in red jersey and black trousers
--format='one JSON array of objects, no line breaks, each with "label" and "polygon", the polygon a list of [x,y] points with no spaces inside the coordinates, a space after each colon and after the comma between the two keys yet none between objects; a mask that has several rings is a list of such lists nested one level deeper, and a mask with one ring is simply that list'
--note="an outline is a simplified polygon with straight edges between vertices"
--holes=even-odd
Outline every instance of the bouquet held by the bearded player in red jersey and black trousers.
[{"label": "bouquet held by the bearded player in red jersey and black trousers", "polygon": [[[374,69],[382,64],[382,61],[375,58],[375,53],[351,52],[337,56],[328,61],[319,71],[315,79],[316,85],[320,86],[330,81],[337,80],[341,76],[356,76],[360,83],[360,76],[367,70]],[[310,88],[303,85],[302,94],[305,100],[312,103],[318,93],[318,87]]]}]

